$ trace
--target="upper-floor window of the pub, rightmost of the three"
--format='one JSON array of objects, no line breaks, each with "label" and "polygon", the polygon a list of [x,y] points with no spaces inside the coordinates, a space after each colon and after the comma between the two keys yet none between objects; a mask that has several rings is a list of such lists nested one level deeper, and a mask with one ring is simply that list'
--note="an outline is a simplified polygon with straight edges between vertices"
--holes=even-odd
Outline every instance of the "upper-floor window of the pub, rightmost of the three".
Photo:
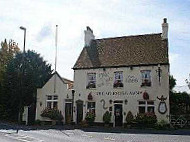
[{"label": "upper-floor window of the pub, rightmost of the three", "polygon": [[150,70],[141,71],[141,76],[142,76],[142,84],[141,84],[141,86],[151,86],[150,72],[151,72]]}]

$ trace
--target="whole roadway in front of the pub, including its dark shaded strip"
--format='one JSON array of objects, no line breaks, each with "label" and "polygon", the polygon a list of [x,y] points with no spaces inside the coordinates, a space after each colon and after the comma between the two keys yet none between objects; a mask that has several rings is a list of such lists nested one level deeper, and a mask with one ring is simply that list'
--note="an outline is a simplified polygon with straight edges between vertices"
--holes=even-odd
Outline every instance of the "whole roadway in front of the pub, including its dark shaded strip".
[{"label": "whole roadway in front of the pub, including its dark shaded strip", "polygon": [[29,127],[0,123],[0,142],[190,142],[190,130]]}]

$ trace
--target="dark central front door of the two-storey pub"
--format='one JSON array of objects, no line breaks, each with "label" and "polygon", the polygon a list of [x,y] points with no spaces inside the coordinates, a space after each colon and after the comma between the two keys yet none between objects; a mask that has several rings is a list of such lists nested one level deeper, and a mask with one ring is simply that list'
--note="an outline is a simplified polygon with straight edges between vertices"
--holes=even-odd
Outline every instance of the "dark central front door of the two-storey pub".
[{"label": "dark central front door of the two-storey pub", "polygon": [[123,114],[122,104],[114,104],[115,126],[122,126]]}]

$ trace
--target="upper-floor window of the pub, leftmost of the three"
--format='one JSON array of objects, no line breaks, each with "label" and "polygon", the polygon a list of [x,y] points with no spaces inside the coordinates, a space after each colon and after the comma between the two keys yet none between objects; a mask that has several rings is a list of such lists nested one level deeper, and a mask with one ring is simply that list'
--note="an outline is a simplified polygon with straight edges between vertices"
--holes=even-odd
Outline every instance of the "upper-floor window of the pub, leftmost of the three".
[{"label": "upper-floor window of the pub, leftmost of the three", "polygon": [[87,89],[96,88],[96,73],[87,74]]}]

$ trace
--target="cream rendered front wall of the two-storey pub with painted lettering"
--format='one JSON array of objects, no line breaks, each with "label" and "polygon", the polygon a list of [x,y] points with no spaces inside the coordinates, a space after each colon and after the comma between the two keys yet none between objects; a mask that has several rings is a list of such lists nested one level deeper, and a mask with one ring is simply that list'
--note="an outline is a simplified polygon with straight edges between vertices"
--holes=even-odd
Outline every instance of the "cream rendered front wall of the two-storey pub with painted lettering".
[{"label": "cream rendered front wall of the two-storey pub with painted lettering", "polygon": [[[151,70],[151,87],[141,87],[142,79],[141,79],[141,70]],[[96,119],[95,122],[103,122],[103,114],[109,110],[110,106],[114,106],[114,103],[110,104],[109,100],[126,100],[127,104],[123,103],[123,122],[125,122],[125,118],[128,111],[131,111],[133,115],[138,113],[138,100],[143,100],[143,92],[146,91],[149,94],[149,100],[154,100],[155,104],[155,114],[157,115],[158,121],[166,120],[169,122],[169,66],[161,65],[161,83],[159,84],[158,78],[158,66],[142,66],[142,67],[133,67],[132,69],[129,67],[121,67],[121,68],[106,68],[103,69],[86,69],[86,70],[75,70],[74,72],[74,90],[75,90],[75,99],[83,100],[83,119],[85,118],[87,112],[87,102],[88,102],[88,94],[91,93],[93,96],[93,100],[96,102]],[[123,71],[123,88],[113,88],[114,82],[114,72]],[[96,89],[86,89],[87,85],[87,73],[96,73]],[[130,78],[133,80],[130,80]],[[103,92],[103,95],[98,92]],[[119,92],[117,95],[106,95],[109,92]],[[125,92],[127,95],[121,95],[122,92]],[[136,93],[135,93],[136,92]],[[138,94],[139,92],[139,94]],[[141,93],[140,93],[141,92]],[[136,95],[131,95],[135,93]],[[80,95],[79,95],[80,94]],[[119,95],[120,94],[120,95]],[[165,100],[167,105],[167,112],[165,114],[160,114],[158,112],[158,105],[160,100],[157,97],[161,96],[167,97]],[[102,99],[105,100],[105,107],[108,109],[103,109],[103,104],[100,102]],[[76,121],[76,103],[75,112],[74,112],[74,121]],[[112,107],[112,122],[114,120],[114,107]]]}]

